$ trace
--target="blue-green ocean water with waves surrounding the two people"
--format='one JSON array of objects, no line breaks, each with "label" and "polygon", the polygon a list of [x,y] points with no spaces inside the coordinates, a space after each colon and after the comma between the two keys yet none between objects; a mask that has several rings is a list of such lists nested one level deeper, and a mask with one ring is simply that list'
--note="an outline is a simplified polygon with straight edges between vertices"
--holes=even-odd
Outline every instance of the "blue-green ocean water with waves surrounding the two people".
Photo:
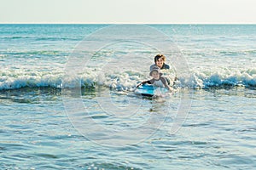
[{"label": "blue-green ocean water with waves surrounding the two people", "polygon": [[[0,169],[255,169],[256,25],[0,25]],[[156,54],[175,89],[134,93]]]}]

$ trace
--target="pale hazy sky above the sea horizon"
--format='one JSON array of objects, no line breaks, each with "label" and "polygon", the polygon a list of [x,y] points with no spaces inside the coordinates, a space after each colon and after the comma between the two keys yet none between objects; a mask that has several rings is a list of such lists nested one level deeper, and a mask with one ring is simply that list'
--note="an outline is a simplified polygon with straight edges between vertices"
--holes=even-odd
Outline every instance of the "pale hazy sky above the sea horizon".
[{"label": "pale hazy sky above the sea horizon", "polygon": [[256,0],[0,0],[0,23],[253,23]]}]

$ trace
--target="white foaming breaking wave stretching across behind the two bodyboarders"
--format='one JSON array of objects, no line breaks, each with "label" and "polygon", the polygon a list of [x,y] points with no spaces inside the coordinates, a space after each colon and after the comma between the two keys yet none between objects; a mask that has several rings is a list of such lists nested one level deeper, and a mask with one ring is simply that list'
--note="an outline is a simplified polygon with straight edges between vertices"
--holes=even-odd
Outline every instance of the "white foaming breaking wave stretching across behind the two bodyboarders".
[{"label": "white foaming breaking wave stretching across behind the two bodyboarders", "polygon": [[[146,75],[146,76],[145,76]],[[169,74],[171,79],[175,74]],[[64,71],[0,71],[0,90],[19,88],[96,88],[104,86],[119,91],[132,91],[138,82],[147,80],[148,74],[138,71],[97,73],[87,71],[76,77],[67,77]],[[177,75],[176,88],[256,87],[256,69],[245,71],[193,71]]]}]

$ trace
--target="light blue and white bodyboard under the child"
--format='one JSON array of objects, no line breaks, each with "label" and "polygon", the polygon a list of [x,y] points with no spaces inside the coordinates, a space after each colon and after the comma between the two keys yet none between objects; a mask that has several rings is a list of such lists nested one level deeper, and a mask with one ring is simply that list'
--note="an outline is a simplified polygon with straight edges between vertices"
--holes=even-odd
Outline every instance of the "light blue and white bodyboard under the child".
[{"label": "light blue and white bodyboard under the child", "polygon": [[154,87],[150,84],[143,84],[142,86],[139,86],[135,90],[135,94],[148,96],[148,97],[164,95],[167,92],[168,90],[166,88]]}]

